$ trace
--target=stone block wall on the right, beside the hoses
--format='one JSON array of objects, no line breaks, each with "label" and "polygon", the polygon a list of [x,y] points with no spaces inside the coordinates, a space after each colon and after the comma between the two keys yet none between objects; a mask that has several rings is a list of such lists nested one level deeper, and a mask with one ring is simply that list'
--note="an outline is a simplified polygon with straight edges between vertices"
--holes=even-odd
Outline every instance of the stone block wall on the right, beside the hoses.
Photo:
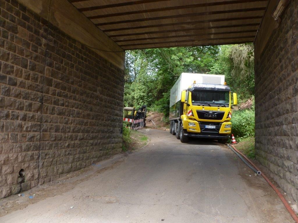
[{"label": "stone block wall on the right, beside the hoses", "polygon": [[[297,12],[298,1],[290,1],[281,16],[279,26],[268,38],[263,52],[255,55],[256,157],[296,202],[298,201]],[[255,43],[260,47],[258,44]]]}]

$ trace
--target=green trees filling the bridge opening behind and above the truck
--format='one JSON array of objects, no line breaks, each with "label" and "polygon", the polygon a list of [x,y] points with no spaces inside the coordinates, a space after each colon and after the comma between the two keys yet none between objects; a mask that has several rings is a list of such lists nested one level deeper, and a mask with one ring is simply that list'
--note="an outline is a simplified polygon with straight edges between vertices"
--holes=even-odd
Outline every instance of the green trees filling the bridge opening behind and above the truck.
[{"label": "green trees filling the bridge opening behind and above the truck", "polygon": [[170,89],[183,72],[225,75],[239,102],[254,95],[252,43],[126,51],[124,105],[169,113]]}]

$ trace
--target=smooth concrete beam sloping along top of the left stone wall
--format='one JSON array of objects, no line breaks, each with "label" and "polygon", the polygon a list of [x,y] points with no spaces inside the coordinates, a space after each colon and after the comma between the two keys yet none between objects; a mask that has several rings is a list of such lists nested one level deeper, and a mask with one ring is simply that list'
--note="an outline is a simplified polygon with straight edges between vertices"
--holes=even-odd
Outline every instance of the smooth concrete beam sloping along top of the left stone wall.
[{"label": "smooth concrete beam sloping along top of the left stone wall", "polygon": [[[67,0],[18,0],[70,37],[124,69],[125,51]],[[95,48],[95,49],[94,49]],[[110,52],[111,51],[111,52]]]}]

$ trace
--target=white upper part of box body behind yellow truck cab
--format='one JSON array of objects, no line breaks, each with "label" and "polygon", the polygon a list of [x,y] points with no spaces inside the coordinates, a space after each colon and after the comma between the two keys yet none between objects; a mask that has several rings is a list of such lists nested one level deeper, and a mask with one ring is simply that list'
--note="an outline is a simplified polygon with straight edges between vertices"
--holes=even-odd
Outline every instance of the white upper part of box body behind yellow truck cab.
[{"label": "white upper part of box body behind yellow truck cab", "polygon": [[171,89],[170,106],[181,100],[181,92],[193,82],[197,84],[224,84],[224,75],[204,73],[182,73]]}]

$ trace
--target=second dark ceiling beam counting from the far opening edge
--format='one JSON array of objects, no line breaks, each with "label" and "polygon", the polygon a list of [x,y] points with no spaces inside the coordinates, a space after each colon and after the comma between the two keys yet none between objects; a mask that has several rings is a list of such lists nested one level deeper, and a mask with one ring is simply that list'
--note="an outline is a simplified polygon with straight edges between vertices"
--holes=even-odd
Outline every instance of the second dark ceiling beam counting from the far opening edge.
[{"label": "second dark ceiling beam counting from the far opening edge", "polygon": [[139,41],[139,40],[158,40],[158,39],[195,37],[195,36],[217,35],[217,34],[234,34],[234,33],[237,34],[237,33],[246,33],[246,32],[257,32],[257,29],[232,31],[232,32],[209,32],[209,33],[199,33],[199,34],[190,34],[190,35],[176,35],[176,36],[173,36],[173,37],[170,37],[170,36],[148,37],[148,38],[129,39],[129,40],[114,40],[114,41],[116,43],[121,43],[121,42],[130,42],[130,41]]}]

